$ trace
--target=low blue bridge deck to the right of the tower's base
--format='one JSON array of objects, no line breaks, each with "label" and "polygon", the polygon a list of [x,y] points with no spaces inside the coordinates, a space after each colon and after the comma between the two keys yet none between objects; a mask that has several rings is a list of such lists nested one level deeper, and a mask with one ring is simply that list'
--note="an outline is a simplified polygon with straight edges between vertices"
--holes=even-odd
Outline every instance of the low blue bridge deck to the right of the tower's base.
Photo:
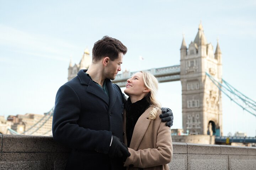
[{"label": "low blue bridge deck to the right of the tower's base", "polygon": [[229,137],[229,136],[215,136],[215,143],[256,143],[256,137]]}]

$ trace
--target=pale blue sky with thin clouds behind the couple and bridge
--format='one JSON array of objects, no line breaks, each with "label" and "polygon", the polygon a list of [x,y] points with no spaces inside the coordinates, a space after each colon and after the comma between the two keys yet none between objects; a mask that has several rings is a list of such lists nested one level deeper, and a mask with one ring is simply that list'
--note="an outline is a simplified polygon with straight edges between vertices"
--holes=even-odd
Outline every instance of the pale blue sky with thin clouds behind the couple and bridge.
[{"label": "pale blue sky with thin clouds behind the couple and bridge", "polygon": [[[200,22],[214,50],[219,39],[223,79],[255,101],[254,0],[0,0],[0,115],[48,112],[70,58],[79,63],[105,35],[127,46],[123,70],[179,65],[183,34],[189,45]],[[256,117],[222,98],[223,135],[256,136]],[[181,129],[181,82],[161,83],[158,99]]]}]

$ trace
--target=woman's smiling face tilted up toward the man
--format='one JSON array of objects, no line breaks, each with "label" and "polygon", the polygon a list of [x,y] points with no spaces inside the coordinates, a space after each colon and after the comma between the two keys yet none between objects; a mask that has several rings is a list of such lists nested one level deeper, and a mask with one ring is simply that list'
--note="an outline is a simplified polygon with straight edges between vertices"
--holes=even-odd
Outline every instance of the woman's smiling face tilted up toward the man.
[{"label": "woman's smiling face tilted up toward the man", "polygon": [[128,96],[145,97],[148,94],[147,87],[144,84],[142,73],[137,72],[127,80],[124,93]]}]

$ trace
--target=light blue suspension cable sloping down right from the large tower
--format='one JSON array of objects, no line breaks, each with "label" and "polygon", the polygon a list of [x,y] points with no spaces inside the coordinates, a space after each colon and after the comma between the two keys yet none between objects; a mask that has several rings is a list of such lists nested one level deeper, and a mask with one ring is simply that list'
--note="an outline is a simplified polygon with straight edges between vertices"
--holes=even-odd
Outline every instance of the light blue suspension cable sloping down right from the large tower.
[{"label": "light blue suspension cable sloping down right from the large tower", "polygon": [[206,72],[206,75],[212,80],[213,84],[216,85],[220,91],[230,98],[231,101],[235,102],[245,111],[256,117],[256,102],[251,98],[245,96],[240,91],[236,90],[228,82],[222,79],[222,83],[216,80],[212,75]]}]

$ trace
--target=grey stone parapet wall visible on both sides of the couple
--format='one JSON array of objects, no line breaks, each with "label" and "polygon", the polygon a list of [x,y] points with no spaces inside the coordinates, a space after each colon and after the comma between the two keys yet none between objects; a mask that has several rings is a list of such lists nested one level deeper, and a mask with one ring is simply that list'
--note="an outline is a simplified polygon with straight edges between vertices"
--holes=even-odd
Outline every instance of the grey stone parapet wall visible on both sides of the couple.
[{"label": "grey stone parapet wall visible on both sides of the couple", "polygon": [[[1,170],[64,170],[70,148],[49,136],[0,135]],[[256,169],[256,148],[173,143],[170,170]]]}]

